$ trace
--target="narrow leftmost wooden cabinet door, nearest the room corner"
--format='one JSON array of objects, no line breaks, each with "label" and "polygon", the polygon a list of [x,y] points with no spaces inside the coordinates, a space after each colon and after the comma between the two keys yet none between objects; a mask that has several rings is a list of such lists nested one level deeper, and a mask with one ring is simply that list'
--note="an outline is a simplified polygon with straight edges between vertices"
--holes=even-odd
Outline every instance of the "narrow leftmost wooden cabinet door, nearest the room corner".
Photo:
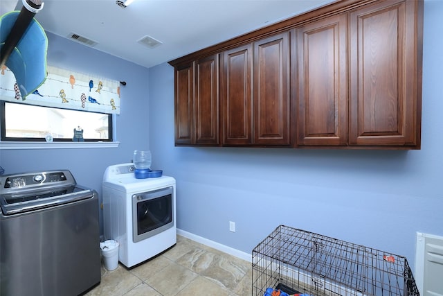
[{"label": "narrow leftmost wooden cabinet door, nearest the room corner", "polygon": [[193,93],[192,63],[175,69],[175,145],[190,145],[193,142],[192,98]]}]

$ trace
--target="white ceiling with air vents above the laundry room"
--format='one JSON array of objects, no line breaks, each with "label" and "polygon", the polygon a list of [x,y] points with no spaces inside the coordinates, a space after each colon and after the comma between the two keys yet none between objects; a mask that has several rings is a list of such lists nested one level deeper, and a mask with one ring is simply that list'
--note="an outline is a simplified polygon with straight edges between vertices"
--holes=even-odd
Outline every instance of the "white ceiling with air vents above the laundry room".
[{"label": "white ceiling with air vents above the laundry room", "polygon": [[[134,0],[121,8],[115,0],[44,0],[35,18],[48,32],[79,35],[98,51],[150,68],[332,1]],[[1,0],[0,13],[21,6]],[[145,36],[162,44],[139,43]]]}]

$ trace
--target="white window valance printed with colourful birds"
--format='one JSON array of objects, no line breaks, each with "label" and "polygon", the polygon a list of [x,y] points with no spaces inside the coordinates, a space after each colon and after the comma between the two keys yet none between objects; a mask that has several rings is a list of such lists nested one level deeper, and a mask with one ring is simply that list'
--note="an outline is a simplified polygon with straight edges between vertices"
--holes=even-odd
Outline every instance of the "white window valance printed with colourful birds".
[{"label": "white window valance printed with colourful birds", "polygon": [[21,97],[14,73],[0,72],[0,99],[46,107],[120,114],[120,82],[57,67],[47,67],[48,76],[32,94]]}]

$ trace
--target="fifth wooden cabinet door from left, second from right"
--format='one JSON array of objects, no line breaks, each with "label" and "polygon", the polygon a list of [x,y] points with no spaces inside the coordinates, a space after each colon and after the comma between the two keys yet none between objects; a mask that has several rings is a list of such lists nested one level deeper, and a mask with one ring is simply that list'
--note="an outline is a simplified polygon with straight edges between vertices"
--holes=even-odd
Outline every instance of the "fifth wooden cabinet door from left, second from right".
[{"label": "fifth wooden cabinet door from left, second from right", "polygon": [[347,15],[297,30],[298,145],[347,143]]}]

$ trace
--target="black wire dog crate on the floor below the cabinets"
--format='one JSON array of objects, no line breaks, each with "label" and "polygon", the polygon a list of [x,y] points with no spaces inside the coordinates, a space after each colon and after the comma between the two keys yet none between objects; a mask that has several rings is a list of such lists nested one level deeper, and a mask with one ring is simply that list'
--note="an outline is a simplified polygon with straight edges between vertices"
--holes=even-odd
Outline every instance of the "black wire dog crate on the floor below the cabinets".
[{"label": "black wire dog crate on the floor below the cabinets", "polygon": [[284,225],[253,250],[253,295],[419,296],[408,261],[398,256]]}]

